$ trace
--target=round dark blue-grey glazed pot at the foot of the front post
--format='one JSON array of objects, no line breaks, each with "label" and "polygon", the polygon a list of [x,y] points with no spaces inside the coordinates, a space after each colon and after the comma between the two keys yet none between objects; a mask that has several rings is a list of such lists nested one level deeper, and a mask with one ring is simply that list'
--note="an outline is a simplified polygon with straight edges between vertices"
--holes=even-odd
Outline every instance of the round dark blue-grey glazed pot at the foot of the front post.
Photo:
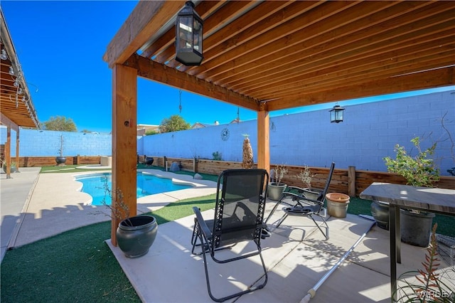
[{"label": "round dark blue-grey glazed pot at the foot of the front post", "polygon": [[152,216],[135,216],[122,220],[117,228],[117,244],[127,257],[141,257],[154,243],[158,223]]}]

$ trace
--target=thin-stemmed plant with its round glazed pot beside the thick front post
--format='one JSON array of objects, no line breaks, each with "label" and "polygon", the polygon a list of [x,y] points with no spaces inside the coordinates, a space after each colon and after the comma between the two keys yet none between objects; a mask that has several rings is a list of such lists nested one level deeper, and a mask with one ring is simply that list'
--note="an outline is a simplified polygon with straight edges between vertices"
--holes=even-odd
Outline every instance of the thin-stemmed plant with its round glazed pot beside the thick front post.
[{"label": "thin-stemmed plant with its round glazed pot beside the thick front post", "polygon": [[149,252],[149,248],[154,243],[156,233],[158,232],[158,223],[154,216],[138,215],[128,217],[129,207],[124,203],[123,193],[120,189],[115,191],[117,207],[113,208],[111,203],[107,203],[106,198],[109,195],[112,201],[112,191],[107,184],[103,185],[105,189],[105,198],[102,204],[109,208],[109,216],[120,220],[116,230],[117,244],[126,257],[141,257]]}]

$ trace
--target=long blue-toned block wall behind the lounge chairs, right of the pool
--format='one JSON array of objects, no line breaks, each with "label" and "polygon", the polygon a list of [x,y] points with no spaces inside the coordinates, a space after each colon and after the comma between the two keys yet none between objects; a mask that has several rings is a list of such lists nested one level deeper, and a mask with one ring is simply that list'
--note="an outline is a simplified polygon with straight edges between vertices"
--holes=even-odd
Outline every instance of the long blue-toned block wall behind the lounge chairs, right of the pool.
[{"label": "long blue-toned block wall behind the lounge chairs, right of the pool", "polygon": [[[405,97],[362,105],[346,106],[344,122],[330,123],[328,110],[302,112],[270,118],[270,162],[272,164],[328,167],[338,169],[386,171],[385,156],[395,156],[395,144],[414,154],[414,137],[424,138],[422,149],[439,142],[435,158],[441,175],[455,166],[449,135],[455,139],[455,91]],[[226,140],[223,129],[229,130]],[[250,134],[257,161],[257,122],[221,124],[182,132],[155,134],[139,139],[139,154],[213,159],[213,152],[223,160],[242,161],[242,134]]]}]

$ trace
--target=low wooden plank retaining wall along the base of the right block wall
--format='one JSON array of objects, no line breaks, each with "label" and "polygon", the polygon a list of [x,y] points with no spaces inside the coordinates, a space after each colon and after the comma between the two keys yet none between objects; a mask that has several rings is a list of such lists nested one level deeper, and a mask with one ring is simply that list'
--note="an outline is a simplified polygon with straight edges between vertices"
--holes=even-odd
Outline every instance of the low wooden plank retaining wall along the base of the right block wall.
[{"label": "low wooden plank retaining wall along the base of the right block wall", "polygon": [[[154,164],[164,168],[171,167],[173,162],[181,165],[185,171],[193,171],[203,174],[219,175],[225,169],[241,169],[242,162],[235,161],[215,161],[207,159],[183,159],[183,158],[167,158],[163,156],[154,156]],[[270,168],[274,169],[276,164],[271,164]],[[256,167],[256,164],[255,164]],[[286,166],[288,172],[284,175],[282,182],[299,187],[306,187],[297,177],[300,171],[304,170],[304,166]],[[313,188],[323,188],[326,184],[328,176],[328,167],[313,167],[309,166],[311,175],[311,186]],[[406,179],[397,174],[391,174],[382,171],[358,171],[355,166],[349,166],[348,169],[337,169],[333,171],[332,181],[329,191],[337,193],[346,193],[349,196],[358,196],[365,188],[373,182],[386,182],[393,184],[406,184]],[[455,177],[441,176],[441,180],[434,184],[440,188],[455,189]]]}]

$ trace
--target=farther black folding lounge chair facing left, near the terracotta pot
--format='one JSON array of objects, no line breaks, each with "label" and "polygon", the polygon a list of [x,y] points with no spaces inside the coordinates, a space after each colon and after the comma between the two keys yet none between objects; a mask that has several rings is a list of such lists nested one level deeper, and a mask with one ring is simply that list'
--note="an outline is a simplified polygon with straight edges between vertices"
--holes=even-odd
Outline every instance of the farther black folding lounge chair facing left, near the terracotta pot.
[{"label": "farther black folding lounge chair facing left, near the terracotta pot", "polygon": [[[284,215],[277,221],[275,227],[279,227],[283,223],[283,221],[287,218],[287,216],[307,216],[313,220],[316,226],[321,230],[321,233],[326,237],[328,240],[328,225],[326,220],[326,208],[324,208],[324,198],[326,197],[326,193],[328,191],[328,186],[330,186],[330,182],[332,179],[333,169],[335,168],[335,163],[332,162],[330,171],[328,172],[328,177],[326,180],[326,186],[324,186],[323,190],[319,192],[319,195],[316,199],[311,198],[314,196],[314,191],[309,191],[306,188],[300,188],[296,186],[288,186],[284,192],[282,197],[277,201],[275,206],[272,208],[272,211],[269,213],[269,216],[265,220],[264,223],[267,223],[270,217],[272,217],[274,211],[277,210],[277,207],[280,204],[284,204],[285,207],[283,208]],[[323,224],[326,225],[326,233],[323,232],[321,225],[319,225],[316,220],[314,220],[313,216],[319,216]]]}]

